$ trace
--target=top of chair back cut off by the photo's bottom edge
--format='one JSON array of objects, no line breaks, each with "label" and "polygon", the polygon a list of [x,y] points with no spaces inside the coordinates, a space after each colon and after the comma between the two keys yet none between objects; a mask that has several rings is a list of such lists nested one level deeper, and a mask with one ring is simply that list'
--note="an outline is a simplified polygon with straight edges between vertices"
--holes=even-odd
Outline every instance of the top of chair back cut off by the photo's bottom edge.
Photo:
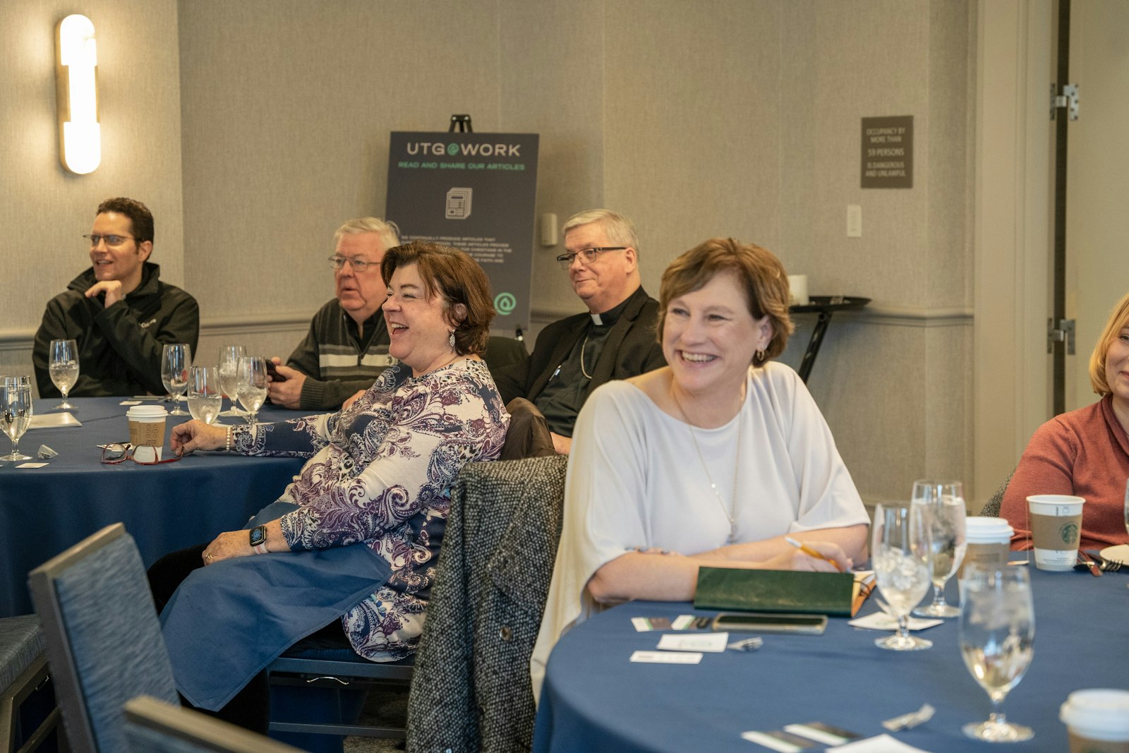
[{"label": "top of chair back cut off by the photo's bottom edge", "polygon": [[125,704],[125,737],[133,753],[298,753],[297,747],[151,695]]}]

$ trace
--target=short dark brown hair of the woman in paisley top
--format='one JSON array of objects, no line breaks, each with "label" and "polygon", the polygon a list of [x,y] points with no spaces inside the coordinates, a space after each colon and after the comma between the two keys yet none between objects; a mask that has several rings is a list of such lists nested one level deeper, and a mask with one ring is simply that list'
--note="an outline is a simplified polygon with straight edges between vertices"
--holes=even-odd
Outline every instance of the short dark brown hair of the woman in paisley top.
[{"label": "short dark brown hair of the woman in paisley top", "polygon": [[457,304],[466,307],[466,316],[455,325],[455,352],[460,356],[484,353],[495,308],[490,281],[479,263],[458,248],[412,240],[385,252],[380,262],[385,283],[391,283],[396,268],[409,264],[419,264],[427,297],[438,295],[443,298],[443,310],[452,318]]}]

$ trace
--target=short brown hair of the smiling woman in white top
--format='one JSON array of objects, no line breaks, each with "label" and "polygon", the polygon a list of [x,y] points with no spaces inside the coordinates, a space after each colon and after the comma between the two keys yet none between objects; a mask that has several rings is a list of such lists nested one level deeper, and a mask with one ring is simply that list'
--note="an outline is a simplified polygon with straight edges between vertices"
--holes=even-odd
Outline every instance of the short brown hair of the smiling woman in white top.
[{"label": "short brown hair of the smiling woman in white top", "polygon": [[753,366],[782,353],[793,331],[788,316],[788,274],[771,251],[733,238],[710,238],[675,259],[663,272],[658,289],[658,341],[663,342],[671,300],[701,289],[719,272],[736,274],[745,291],[749,313],[754,319],[768,315],[772,323],[772,339],[762,356],[753,356]]}]

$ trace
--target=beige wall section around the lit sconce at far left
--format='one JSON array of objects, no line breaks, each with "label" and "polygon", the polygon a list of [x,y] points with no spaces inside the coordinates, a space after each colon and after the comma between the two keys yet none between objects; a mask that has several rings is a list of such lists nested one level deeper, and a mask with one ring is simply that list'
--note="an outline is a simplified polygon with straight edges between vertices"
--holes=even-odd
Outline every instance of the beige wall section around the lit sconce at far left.
[{"label": "beige wall section around the lit sconce at far left", "polygon": [[128,195],[152,210],[152,261],[184,281],[180,54],[173,0],[89,0],[98,44],[102,166],[73,175],[59,163],[55,25],[72,2],[0,2],[0,369],[30,374],[43,307],[90,265],[98,203]]}]

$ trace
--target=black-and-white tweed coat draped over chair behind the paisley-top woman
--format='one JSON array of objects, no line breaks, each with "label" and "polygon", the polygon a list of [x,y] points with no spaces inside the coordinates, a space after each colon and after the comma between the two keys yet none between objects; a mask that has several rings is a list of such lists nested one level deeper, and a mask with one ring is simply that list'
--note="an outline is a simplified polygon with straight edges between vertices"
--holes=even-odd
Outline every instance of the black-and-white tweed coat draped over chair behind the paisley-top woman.
[{"label": "black-and-white tweed coat draped over chair behind the paisley-top woman", "polygon": [[452,489],[408,701],[408,750],[528,751],[530,656],[560,540],[568,457],[469,463]]}]

